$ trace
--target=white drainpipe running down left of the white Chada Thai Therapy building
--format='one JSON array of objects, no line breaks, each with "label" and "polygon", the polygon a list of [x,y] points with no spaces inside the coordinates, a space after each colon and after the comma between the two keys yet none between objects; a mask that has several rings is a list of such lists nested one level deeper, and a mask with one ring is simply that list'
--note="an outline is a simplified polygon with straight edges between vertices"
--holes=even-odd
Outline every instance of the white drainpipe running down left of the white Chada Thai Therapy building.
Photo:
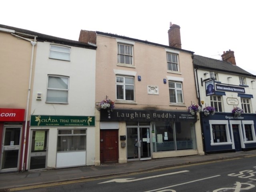
[{"label": "white drainpipe running down left of the white Chada Thai Therapy building", "polygon": [[26,120],[25,120],[25,131],[24,131],[24,143],[23,143],[23,152],[22,152],[22,171],[24,172],[26,170],[26,163],[25,160],[25,150],[26,150],[26,135],[27,135],[27,126],[28,126],[28,108],[29,108],[29,101],[30,101],[30,91],[31,91],[31,79],[32,79],[32,67],[33,67],[33,59],[34,59],[34,47],[36,46],[36,37],[28,34],[22,34],[15,32],[16,34],[20,35],[26,35],[30,37],[34,37],[34,41],[31,41],[30,39],[23,38],[21,36],[18,36],[16,34],[13,34],[13,36],[16,36],[18,38],[21,38],[23,40],[29,41],[32,44],[32,53],[31,53],[31,61],[30,61],[30,75],[29,75],[29,84],[28,84],[28,98],[27,98],[27,107],[26,107]]}]

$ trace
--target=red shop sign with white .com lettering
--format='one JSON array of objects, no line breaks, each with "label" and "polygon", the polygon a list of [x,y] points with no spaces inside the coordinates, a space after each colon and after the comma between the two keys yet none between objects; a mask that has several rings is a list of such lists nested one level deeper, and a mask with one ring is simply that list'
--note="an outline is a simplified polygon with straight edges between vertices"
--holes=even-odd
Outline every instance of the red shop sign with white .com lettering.
[{"label": "red shop sign with white .com lettering", "polygon": [[0,108],[0,121],[24,121],[25,109]]}]

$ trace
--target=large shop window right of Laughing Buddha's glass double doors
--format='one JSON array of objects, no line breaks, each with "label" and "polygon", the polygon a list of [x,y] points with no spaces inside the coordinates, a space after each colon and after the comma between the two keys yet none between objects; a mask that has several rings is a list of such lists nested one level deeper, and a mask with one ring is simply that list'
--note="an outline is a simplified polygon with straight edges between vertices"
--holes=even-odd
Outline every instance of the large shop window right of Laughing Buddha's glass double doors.
[{"label": "large shop window right of Laughing Buddha's glass double doors", "polygon": [[152,143],[154,152],[196,149],[194,123],[154,122]]}]

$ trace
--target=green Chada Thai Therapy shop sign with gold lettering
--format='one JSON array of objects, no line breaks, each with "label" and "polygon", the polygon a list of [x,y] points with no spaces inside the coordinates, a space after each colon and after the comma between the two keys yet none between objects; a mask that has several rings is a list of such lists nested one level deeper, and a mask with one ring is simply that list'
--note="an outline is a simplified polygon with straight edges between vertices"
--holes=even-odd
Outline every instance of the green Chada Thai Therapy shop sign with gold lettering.
[{"label": "green Chada Thai Therapy shop sign with gold lettering", "polygon": [[93,127],[94,116],[31,115],[31,127]]}]

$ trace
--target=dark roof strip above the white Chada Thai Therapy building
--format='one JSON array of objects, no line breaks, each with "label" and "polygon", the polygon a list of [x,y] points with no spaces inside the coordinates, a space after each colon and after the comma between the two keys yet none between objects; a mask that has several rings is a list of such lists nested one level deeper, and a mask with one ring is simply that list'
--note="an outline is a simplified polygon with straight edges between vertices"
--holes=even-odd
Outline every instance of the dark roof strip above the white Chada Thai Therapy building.
[{"label": "dark roof strip above the white Chada Thai Therapy building", "polygon": [[[53,42],[53,43],[58,43],[58,44],[63,44],[63,45],[68,45],[68,46],[74,46],[74,47],[87,48],[87,49],[96,49],[97,48],[97,46],[93,46],[93,45],[86,44],[86,43],[83,43],[83,42],[68,40],[68,39],[64,39],[64,38],[58,38],[58,37],[49,36],[49,35],[46,35],[46,34],[41,34],[41,33],[38,33],[38,32],[33,32],[33,31],[30,31],[30,30],[20,29],[20,28],[6,26],[6,25],[2,25],[2,24],[0,24],[0,28],[5,28],[5,29],[9,29],[9,30],[14,30],[15,32],[37,36],[37,38],[36,38],[37,41],[41,41],[41,42],[42,41]],[[18,35],[20,35],[20,34],[18,34]]]}]

